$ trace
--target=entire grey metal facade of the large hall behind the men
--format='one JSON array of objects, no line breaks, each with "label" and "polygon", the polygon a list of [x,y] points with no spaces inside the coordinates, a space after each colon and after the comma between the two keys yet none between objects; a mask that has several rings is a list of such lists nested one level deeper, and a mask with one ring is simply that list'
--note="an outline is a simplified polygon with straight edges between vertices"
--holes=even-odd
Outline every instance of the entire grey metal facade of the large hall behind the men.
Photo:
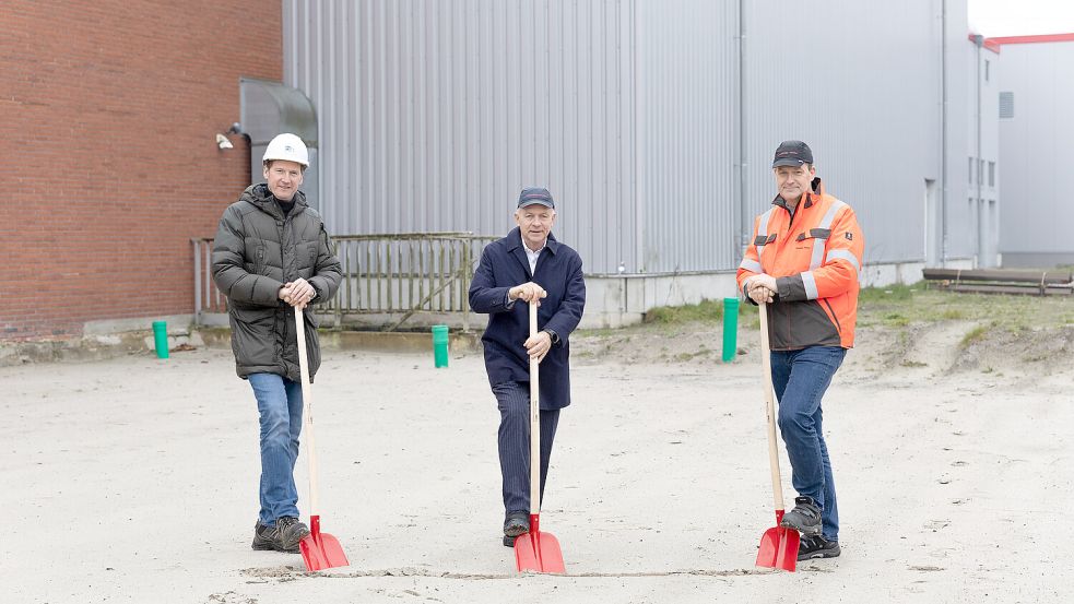
[{"label": "entire grey metal facade of the large hall behind the men", "polygon": [[544,185],[589,273],[730,271],[775,193],[772,150],[799,138],[857,210],[866,262],[975,252],[951,57],[942,161],[942,32],[968,56],[964,0],[283,5],[333,232],[501,234],[518,190]]}]

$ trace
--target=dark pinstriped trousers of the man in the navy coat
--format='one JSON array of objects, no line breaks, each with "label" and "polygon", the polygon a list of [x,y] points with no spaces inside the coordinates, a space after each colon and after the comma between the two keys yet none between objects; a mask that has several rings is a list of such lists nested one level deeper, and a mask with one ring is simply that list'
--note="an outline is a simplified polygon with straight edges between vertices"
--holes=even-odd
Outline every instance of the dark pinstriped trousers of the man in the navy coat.
[{"label": "dark pinstriped trousers of the man in the navy coat", "polygon": [[[508,381],[493,387],[499,407],[499,470],[504,476],[504,510],[530,511],[530,384]],[[541,410],[541,500],[548,477],[552,441],[559,410]]]}]

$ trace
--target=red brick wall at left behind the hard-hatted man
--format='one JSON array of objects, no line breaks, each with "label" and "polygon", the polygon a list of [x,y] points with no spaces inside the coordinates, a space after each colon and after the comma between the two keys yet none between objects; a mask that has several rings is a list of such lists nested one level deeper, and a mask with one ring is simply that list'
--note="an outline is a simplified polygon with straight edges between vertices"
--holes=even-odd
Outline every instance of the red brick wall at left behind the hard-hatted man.
[{"label": "red brick wall at left behind the hard-hatted man", "polygon": [[0,341],[193,311],[190,238],[249,177],[213,139],[282,44],[279,0],[0,3]]}]

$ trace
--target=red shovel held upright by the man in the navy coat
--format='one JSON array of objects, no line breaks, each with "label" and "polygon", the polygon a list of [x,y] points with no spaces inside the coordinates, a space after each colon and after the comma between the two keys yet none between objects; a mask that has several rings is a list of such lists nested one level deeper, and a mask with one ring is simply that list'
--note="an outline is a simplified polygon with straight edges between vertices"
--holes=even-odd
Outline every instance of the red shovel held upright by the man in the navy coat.
[{"label": "red shovel held upright by the man in the navy coat", "polygon": [[[536,335],[536,300],[530,303],[530,337]],[[530,532],[515,540],[519,572],[566,572],[559,541],[541,532],[541,390],[540,366],[530,357]]]}]

